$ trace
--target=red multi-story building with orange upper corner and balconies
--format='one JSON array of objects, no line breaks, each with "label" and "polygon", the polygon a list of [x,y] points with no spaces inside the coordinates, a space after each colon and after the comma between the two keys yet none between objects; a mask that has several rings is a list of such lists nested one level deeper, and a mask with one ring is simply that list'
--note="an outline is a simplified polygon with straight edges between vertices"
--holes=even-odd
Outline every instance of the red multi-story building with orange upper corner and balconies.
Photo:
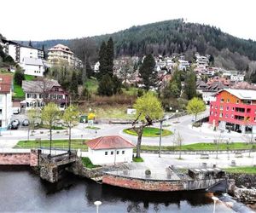
[{"label": "red multi-story building with orange upper corner and balconies", "polygon": [[256,133],[256,90],[223,89],[211,102],[209,123],[221,129]]}]

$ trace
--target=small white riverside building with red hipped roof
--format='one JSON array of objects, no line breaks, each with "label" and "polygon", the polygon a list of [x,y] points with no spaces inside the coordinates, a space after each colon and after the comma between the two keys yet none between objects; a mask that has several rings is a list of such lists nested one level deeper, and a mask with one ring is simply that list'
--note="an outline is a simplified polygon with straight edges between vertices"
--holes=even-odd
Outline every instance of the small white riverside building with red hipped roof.
[{"label": "small white riverside building with red hipped roof", "polygon": [[116,164],[132,161],[133,145],[119,135],[102,136],[87,142],[92,164]]}]

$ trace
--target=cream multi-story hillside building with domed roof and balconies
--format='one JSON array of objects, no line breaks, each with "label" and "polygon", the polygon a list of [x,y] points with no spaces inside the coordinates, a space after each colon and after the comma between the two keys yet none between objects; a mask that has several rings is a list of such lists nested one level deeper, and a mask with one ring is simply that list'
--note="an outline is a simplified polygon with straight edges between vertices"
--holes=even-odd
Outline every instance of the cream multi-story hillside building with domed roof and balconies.
[{"label": "cream multi-story hillside building with domed roof and balconies", "polygon": [[48,49],[48,61],[51,64],[67,63],[69,66],[75,66],[75,58],[73,52],[63,44],[57,44],[53,48]]}]

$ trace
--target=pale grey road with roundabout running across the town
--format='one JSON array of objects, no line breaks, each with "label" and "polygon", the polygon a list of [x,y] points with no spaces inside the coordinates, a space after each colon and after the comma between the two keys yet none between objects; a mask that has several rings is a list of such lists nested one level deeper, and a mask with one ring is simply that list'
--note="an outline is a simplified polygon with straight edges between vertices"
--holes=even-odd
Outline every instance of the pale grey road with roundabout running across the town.
[{"label": "pale grey road with roundabout running across the town", "polygon": [[[208,113],[208,111],[203,112],[201,116],[204,116]],[[207,128],[207,126],[203,126],[201,128],[192,128],[191,127],[191,115],[186,115],[180,118],[174,118],[166,121],[165,124],[170,124],[169,127],[165,127],[167,130],[171,130],[173,133],[179,132],[183,137],[183,144],[192,144],[198,142],[212,142],[219,135],[224,138],[224,140],[230,141],[244,141],[242,139],[242,135],[236,132],[231,133],[220,133],[220,131],[213,131]],[[72,138],[84,138],[91,139],[97,136],[102,135],[122,135],[126,139],[132,141],[133,143],[137,143],[137,136],[127,135],[123,133],[123,130],[131,127],[131,124],[97,124],[96,126],[100,128],[100,130],[89,130],[84,129],[87,124],[79,124],[72,130]],[[206,124],[207,125],[207,124]],[[160,124],[154,124],[154,127],[160,127]],[[65,130],[54,130],[53,131],[53,139],[66,139],[68,135]],[[174,134],[175,135],[175,134]],[[6,146],[9,144],[8,141],[20,141],[26,140],[28,137],[27,129],[23,130],[8,130],[3,131],[2,136],[0,136],[0,146]],[[163,146],[172,146],[173,145],[173,135],[162,137],[162,145]],[[48,139],[49,138],[49,130],[36,130],[34,135],[29,136],[30,139]],[[13,142],[11,142],[13,144]],[[158,145],[159,137],[143,137],[144,145]]]}]

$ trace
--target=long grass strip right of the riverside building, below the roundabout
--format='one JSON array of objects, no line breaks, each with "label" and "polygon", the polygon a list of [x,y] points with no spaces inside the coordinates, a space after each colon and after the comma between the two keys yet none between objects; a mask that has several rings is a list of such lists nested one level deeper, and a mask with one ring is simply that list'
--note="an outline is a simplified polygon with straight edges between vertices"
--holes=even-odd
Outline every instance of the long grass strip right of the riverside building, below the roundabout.
[{"label": "long grass strip right of the riverside building, below the roundabout", "polygon": [[[229,149],[230,150],[241,150],[241,149],[251,149],[252,145],[248,145],[246,143],[242,142],[236,142],[230,144]],[[253,147],[254,148],[254,147]],[[223,143],[219,144],[218,148],[215,144],[213,143],[194,143],[194,144],[188,144],[188,145],[183,145],[180,147],[173,147],[173,146],[163,146],[161,147],[161,150],[163,151],[173,151],[173,150],[183,150],[183,151],[197,151],[197,150],[203,150],[203,151],[214,151],[214,150],[227,150],[228,145]],[[142,150],[144,151],[158,151],[159,146],[147,146],[147,145],[142,145]]]}]

